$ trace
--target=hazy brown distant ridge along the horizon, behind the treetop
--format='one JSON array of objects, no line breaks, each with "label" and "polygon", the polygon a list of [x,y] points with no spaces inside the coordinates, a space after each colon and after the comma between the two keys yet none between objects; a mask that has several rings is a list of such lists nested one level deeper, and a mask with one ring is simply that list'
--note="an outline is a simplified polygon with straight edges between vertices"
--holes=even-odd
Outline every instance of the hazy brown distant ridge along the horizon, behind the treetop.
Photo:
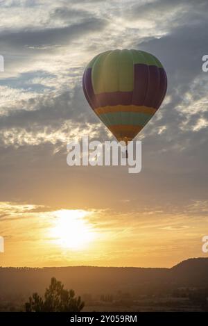
[{"label": "hazy brown distant ridge along the horizon, behind the treetop", "polygon": [[56,277],[79,294],[155,293],[183,286],[208,288],[208,258],[187,259],[172,268],[0,268],[1,293],[42,293],[51,277]]}]

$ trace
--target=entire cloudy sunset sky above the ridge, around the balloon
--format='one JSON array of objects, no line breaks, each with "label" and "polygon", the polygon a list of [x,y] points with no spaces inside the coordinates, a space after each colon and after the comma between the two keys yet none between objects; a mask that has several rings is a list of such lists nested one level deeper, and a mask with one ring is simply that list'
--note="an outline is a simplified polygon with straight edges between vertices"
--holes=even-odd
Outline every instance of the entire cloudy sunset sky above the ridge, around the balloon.
[{"label": "entire cloudy sunset sky above the ridge, around the balloon", "polygon": [[[208,232],[207,0],[0,1],[0,266],[171,267]],[[67,142],[112,140],[83,95],[109,49],[162,62],[166,98],[142,169],[69,167]]]}]

